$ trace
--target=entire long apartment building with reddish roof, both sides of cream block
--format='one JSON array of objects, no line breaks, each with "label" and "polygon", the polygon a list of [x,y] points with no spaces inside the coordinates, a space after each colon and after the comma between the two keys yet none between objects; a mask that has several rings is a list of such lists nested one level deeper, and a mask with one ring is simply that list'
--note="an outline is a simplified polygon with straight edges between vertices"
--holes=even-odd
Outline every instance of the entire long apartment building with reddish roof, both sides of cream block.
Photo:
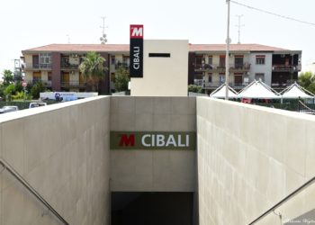
[{"label": "entire long apartment building with reddish roof, both sides of cream block", "polygon": [[[258,44],[231,44],[229,49],[229,85],[236,90],[259,78],[267,85],[281,90],[297,81],[302,69],[302,50]],[[199,85],[203,93],[210,94],[223,84],[225,50],[225,44],[189,44],[188,85]],[[115,92],[115,70],[122,66],[130,71],[128,44],[51,44],[23,50],[22,68],[26,81],[35,85],[38,80],[42,80],[52,91],[91,91],[91,86],[85,83],[79,70],[79,64],[89,51],[96,51],[105,58],[103,65],[109,68],[99,85],[99,92]]]}]

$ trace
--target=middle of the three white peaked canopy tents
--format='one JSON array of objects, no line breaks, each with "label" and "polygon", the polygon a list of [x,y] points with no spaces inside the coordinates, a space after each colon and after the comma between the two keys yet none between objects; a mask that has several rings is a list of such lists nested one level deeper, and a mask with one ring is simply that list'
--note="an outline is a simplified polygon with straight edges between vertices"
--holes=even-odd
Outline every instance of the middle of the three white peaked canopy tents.
[{"label": "middle of the three white peaked canopy tents", "polygon": [[280,98],[278,93],[270,86],[266,85],[260,79],[254,80],[252,83],[244,87],[239,93],[240,98],[258,98],[258,99],[274,99]]}]

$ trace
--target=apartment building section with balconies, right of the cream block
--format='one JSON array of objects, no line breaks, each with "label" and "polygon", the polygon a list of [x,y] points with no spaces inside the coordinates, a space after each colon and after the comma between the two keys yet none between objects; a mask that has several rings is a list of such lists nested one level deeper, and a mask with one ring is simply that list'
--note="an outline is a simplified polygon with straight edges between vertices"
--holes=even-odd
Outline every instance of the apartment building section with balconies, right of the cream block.
[{"label": "apartment building section with balconies, right of the cream block", "polygon": [[[226,45],[191,45],[188,83],[210,94],[225,82]],[[296,82],[301,71],[302,50],[258,44],[229,45],[229,85],[242,89],[254,79],[262,79],[275,89]]]}]

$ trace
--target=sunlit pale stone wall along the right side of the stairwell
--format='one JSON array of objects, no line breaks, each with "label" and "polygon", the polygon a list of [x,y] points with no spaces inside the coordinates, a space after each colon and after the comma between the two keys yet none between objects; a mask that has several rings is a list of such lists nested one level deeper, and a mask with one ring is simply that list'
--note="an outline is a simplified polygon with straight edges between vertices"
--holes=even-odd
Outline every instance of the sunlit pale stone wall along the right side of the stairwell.
[{"label": "sunlit pale stone wall along the right side of the stairwell", "polygon": [[[249,224],[312,178],[314,130],[312,115],[197,97],[200,224]],[[314,196],[315,184],[276,212],[303,217]]]}]

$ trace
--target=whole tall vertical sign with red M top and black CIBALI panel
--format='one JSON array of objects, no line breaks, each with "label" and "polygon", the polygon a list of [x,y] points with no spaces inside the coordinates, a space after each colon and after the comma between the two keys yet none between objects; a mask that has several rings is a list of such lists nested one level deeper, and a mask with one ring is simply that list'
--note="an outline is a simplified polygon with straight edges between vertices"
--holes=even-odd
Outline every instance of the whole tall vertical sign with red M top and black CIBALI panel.
[{"label": "whole tall vertical sign with red M top and black CIBALI panel", "polygon": [[130,25],[130,77],[143,77],[143,25]]}]

